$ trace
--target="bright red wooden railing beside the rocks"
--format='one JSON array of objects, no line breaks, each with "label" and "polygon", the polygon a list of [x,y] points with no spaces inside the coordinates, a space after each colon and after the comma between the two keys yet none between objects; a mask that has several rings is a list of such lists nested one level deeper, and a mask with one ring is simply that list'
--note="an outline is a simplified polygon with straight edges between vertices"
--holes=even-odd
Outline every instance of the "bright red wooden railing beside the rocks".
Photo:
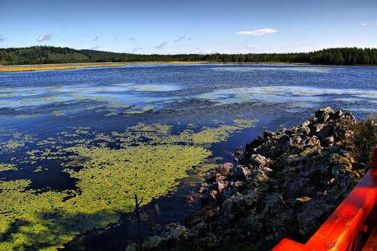
[{"label": "bright red wooden railing beside the rocks", "polygon": [[377,225],[377,146],[371,168],[343,200],[337,210],[304,245],[284,238],[272,251],[350,251],[357,245],[360,233],[369,233]]}]

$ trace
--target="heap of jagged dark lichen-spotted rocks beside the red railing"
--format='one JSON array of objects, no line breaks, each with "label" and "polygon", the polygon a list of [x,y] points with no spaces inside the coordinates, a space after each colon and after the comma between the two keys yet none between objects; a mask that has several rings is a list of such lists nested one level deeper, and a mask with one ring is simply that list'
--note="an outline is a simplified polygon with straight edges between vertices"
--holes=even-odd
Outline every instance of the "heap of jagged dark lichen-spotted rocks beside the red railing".
[{"label": "heap of jagged dark lichen-spotted rocks beside the red railing", "polygon": [[[345,139],[350,113],[319,109],[300,126],[263,132],[207,176],[202,207],[171,223],[144,250],[270,250],[282,238],[304,243],[364,176]],[[186,197],[190,203],[192,198]],[[137,244],[127,251],[137,250]]]}]

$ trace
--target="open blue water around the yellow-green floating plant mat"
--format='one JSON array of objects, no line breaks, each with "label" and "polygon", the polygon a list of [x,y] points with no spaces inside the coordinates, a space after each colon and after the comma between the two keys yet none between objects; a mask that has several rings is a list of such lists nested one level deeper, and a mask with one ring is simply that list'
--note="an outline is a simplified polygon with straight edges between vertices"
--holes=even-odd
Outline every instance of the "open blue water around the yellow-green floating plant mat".
[{"label": "open blue water around the yellow-green floating plant mat", "polygon": [[[353,112],[357,119],[377,111],[377,68],[296,65],[145,65],[73,70],[0,73],[0,143],[10,132],[47,139],[69,128],[88,127],[98,132],[121,132],[138,123],[163,123],[174,132],[189,123],[214,126],[235,119],[258,119],[256,128],[232,135],[211,146],[222,162],[231,161],[235,147],[251,142],[263,130],[295,126],[320,107]],[[67,129],[68,128],[68,129]],[[0,163],[20,157],[23,151],[0,152]],[[50,163],[55,165],[54,162]],[[0,172],[1,174],[1,172]],[[48,172],[23,172],[33,189],[73,189],[75,180],[50,168]],[[3,180],[17,172],[1,174]],[[64,182],[60,182],[63,180]],[[1,179],[0,179],[1,182]],[[145,206],[154,222],[183,222],[200,206],[183,203],[182,197],[197,187],[190,178],[177,192]],[[164,216],[156,215],[158,204]],[[124,250],[126,240],[137,239],[127,220],[117,228],[94,230],[78,236],[68,250]],[[147,223],[143,225],[146,234]]]}]

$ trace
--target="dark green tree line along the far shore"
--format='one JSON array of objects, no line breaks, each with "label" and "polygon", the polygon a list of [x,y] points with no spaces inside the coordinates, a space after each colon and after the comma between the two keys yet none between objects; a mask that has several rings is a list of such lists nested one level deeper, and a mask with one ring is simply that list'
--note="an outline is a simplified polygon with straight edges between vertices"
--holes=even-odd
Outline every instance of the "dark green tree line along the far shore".
[{"label": "dark green tree line along the far shore", "polygon": [[127,54],[68,47],[33,46],[0,49],[0,65],[95,63],[137,61],[209,61],[229,63],[311,63],[324,65],[377,65],[376,48],[330,48],[316,52],[263,54]]}]

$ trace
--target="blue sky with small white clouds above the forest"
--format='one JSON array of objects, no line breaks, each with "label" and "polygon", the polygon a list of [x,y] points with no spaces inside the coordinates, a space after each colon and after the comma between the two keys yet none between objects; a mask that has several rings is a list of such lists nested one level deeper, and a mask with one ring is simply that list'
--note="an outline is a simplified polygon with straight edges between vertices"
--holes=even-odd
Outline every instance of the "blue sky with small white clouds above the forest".
[{"label": "blue sky with small white clouds above the forest", "polygon": [[0,0],[0,48],[136,54],[377,47],[376,0]]}]

